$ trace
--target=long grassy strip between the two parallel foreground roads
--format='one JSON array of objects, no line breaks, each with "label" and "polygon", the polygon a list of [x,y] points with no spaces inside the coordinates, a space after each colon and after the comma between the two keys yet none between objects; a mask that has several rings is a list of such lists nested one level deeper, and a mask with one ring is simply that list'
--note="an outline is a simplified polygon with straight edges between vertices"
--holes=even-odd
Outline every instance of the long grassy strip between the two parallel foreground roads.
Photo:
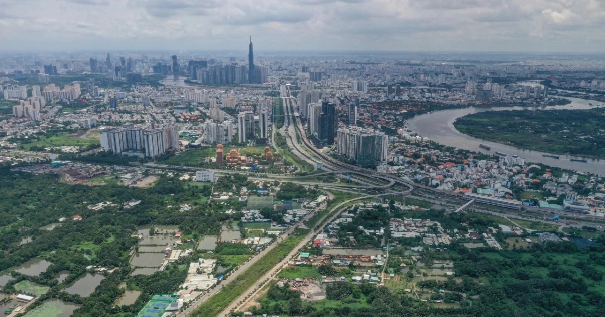
[{"label": "long grassy strip between the two parallel foreground roads", "polygon": [[240,274],[220,292],[205,301],[192,316],[217,316],[229,306],[238,296],[246,292],[258,278],[266,274],[275,264],[279,263],[292,249],[304,239],[304,235],[290,235],[286,240],[269,251],[263,258],[252,264],[246,272]]}]

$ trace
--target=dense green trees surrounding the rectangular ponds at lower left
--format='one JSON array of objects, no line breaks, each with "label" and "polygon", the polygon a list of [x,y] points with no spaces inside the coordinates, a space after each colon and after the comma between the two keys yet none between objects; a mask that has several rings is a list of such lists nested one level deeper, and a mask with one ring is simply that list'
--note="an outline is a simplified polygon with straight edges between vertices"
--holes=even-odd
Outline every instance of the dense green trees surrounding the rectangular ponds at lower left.
[{"label": "dense green trees surrounding the rectangular ponds at lower left", "polygon": [[[153,275],[128,277],[132,270],[128,264],[129,252],[137,243],[137,238],[131,235],[137,226],[179,225],[183,234],[197,238],[203,234],[218,234],[221,222],[241,216],[240,213],[224,213],[233,208],[229,203],[198,203],[209,196],[211,187],[191,186],[178,178],[160,176],[151,188],[114,184],[91,187],[64,184],[59,182],[58,175],[33,175],[9,168],[0,165],[0,227],[4,227],[0,231],[0,271],[12,269],[34,257],[44,258],[52,264],[38,277],[14,273],[16,280],[8,284],[7,290],[23,279],[50,286],[50,292],[41,302],[47,298],[59,298],[80,304],[82,308],[74,312],[76,316],[134,315],[152,293],[174,292],[183,282],[185,264],[192,258],[182,258],[170,264],[166,271]],[[239,176],[238,180],[247,181]],[[120,204],[131,199],[141,200],[141,203],[130,209],[119,206],[93,211],[87,208],[91,203],[111,201]],[[168,208],[183,203],[194,208],[186,212]],[[76,214],[83,220],[71,220]],[[52,231],[40,229],[58,222],[61,217],[67,220]],[[32,241],[19,245],[24,237],[31,237]],[[228,245],[221,247],[230,248]],[[234,254],[250,252],[235,249]],[[89,265],[118,269],[106,275],[88,298],[65,293],[65,284],[80,278]],[[58,284],[56,275],[61,271],[67,271],[69,275],[62,284]],[[112,308],[124,291],[118,287],[122,281],[126,281],[128,289],[142,290],[143,293],[132,306]]]}]

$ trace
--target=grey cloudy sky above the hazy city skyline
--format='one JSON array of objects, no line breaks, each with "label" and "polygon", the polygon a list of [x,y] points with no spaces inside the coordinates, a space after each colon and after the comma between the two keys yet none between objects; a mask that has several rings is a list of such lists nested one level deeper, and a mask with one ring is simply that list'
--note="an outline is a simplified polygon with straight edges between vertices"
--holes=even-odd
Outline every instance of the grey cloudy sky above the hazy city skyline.
[{"label": "grey cloudy sky above the hazy city skyline", "polygon": [[0,0],[0,50],[605,51],[603,0]]}]

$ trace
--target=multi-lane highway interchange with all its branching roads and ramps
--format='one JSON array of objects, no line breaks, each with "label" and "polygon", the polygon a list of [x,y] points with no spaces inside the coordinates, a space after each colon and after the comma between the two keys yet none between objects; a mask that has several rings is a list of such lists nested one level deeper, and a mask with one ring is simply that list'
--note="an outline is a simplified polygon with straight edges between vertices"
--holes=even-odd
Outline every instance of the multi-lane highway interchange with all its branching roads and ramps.
[{"label": "multi-lane highway interchange with all its branching roads and ramps", "polygon": [[[404,179],[399,176],[394,176],[394,175],[390,175],[387,173],[381,173],[381,172],[378,172],[375,170],[370,170],[368,168],[362,168],[362,167],[358,167],[356,165],[347,164],[347,163],[338,161],[337,159],[334,159],[334,158],[330,157],[329,155],[326,155],[325,153],[322,153],[320,150],[317,150],[313,146],[313,144],[311,144],[309,139],[307,139],[307,137],[306,137],[306,133],[304,132],[304,127],[302,125],[302,121],[298,117],[298,115],[296,115],[296,113],[295,113],[295,109],[297,108],[296,107],[297,101],[296,101],[296,98],[292,97],[289,86],[282,85],[280,87],[280,95],[281,95],[280,98],[282,100],[282,105],[283,105],[284,125],[280,129],[276,129],[276,125],[275,125],[275,121],[274,121],[273,131],[272,131],[273,132],[273,135],[272,135],[273,142],[275,142],[276,133],[279,133],[284,139],[286,139],[287,147],[289,147],[289,151],[293,155],[298,156],[298,158],[304,160],[305,162],[307,162],[313,166],[314,173],[309,176],[316,177],[316,176],[323,176],[323,175],[335,175],[339,179],[351,179],[356,184],[352,185],[352,184],[339,184],[339,182],[320,183],[320,182],[298,181],[296,178],[299,176],[284,176],[284,175],[271,175],[271,174],[263,174],[262,177],[260,175],[259,175],[259,177],[255,177],[255,176],[250,176],[250,174],[246,173],[245,171],[226,172],[224,170],[215,170],[215,172],[218,173],[218,175],[221,175],[224,173],[246,173],[250,179],[258,179],[258,180],[265,180],[265,181],[274,181],[276,179],[280,180],[280,181],[292,181],[295,184],[300,184],[300,185],[307,185],[307,186],[317,185],[319,188],[322,188],[323,190],[330,190],[330,189],[339,190],[339,191],[345,191],[345,192],[350,192],[350,193],[356,193],[356,194],[360,195],[359,197],[356,197],[355,199],[347,200],[345,202],[340,203],[336,207],[333,207],[330,210],[330,213],[326,214],[326,216],[324,216],[324,218],[322,218],[322,220],[320,220],[319,223],[322,223],[325,220],[325,217],[329,217],[329,219],[327,221],[330,221],[334,217],[338,216],[340,210],[342,210],[343,205],[353,202],[355,200],[367,199],[369,197],[380,197],[380,196],[389,196],[389,195],[408,196],[411,198],[421,199],[421,200],[425,200],[430,203],[434,203],[436,205],[445,207],[449,210],[456,210],[456,208],[460,207],[461,205],[463,205],[465,203],[465,200],[461,199],[462,195],[460,195],[460,194],[439,191],[432,187],[428,187],[428,186],[425,186],[422,184],[416,184],[412,181],[409,181],[408,179]],[[321,163],[321,165],[318,165],[318,163]],[[174,166],[171,166],[171,165],[162,165],[162,164],[148,164],[148,165],[152,166],[152,167],[159,167],[159,168],[175,168]],[[183,168],[181,167],[180,169],[183,169]],[[185,168],[185,169],[188,169],[188,168]],[[317,173],[318,169],[321,169],[322,171],[320,173]],[[398,190],[395,187],[405,188],[405,190]],[[370,191],[370,190],[382,191],[382,193],[379,193],[379,194],[364,193],[364,191]],[[326,193],[329,193],[329,192],[326,192]],[[336,211],[336,212],[333,212],[333,211]],[[552,219],[552,211],[544,210],[541,208],[532,208],[532,207],[526,207],[525,212],[518,212],[518,211],[508,212],[507,211],[506,213],[502,213],[500,211],[494,211],[492,208],[482,207],[481,205],[475,205],[473,207],[473,211],[476,211],[479,213],[493,214],[496,216],[504,216],[504,217],[507,217],[507,219],[536,220],[537,218],[546,219],[547,216],[550,219]],[[578,223],[575,224],[574,226],[583,226],[583,225],[595,226],[595,224],[593,222],[595,222],[595,221],[603,222],[602,218],[595,217],[595,216],[576,214],[576,213],[566,213],[566,212],[560,212],[558,214],[560,214],[561,218],[566,217],[568,219],[576,219],[578,221]],[[306,219],[309,219],[312,216],[313,216],[313,214],[309,214],[306,217]],[[531,216],[533,216],[533,217],[531,217]],[[564,220],[561,220],[561,222],[564,222]],[[179,313],[178,316],[188,316],[191,313],[193,313],[195,311],[195,309],[197,309],[197,307],[199,307],[201,304],[204,303],[204,301],[206,301],[206,299],[210,298],[215,293],[220,292],[220,289],[222,287],[224,287],[226,284],[229,284],[230,281],[235,280],[235,278],[237,278],[240,274],[245,272],[246,269],[248,269],[250,266],[252,266],[252,264],[254,264],[256,261],[258,261],[260,258],[262,258],[263,255],[267,254],[267,252],[269,252],[271,249],[275,248],[275,246],[278,245],[278,243],[280,243],[281,240],[285,239],[288,235],[292,234],[294,229],[298,228],[298,226],[301,226],[301,225],[302,225],[302,222],[299,222],[296,225],[290,226],[290,228],[287,229],[287,231],[284,232],[284,234],[280,236],[280,239],[277,239],[275,242],[273,242],[272,244],[267,246],[265,249],[263,249],[263,251],[259,252],[259,254],[255,255],[249,261],[247,261],[242,266],[240,266],[237,270],[232,272],[232,274],[229,276],[229,278],[227,278],[227,280],[224,280],[221,283],[220,287],[216,287],[215,289],[210,290],[208,293],[205,293],[203,296],[200,296],[199,298],[195,299],[195,301],[193,301],[191,304],[189,304],[188,308],[183,310],[183,312]],[[558,225],[565,226],[563,223],[558,223]],[[244,292],[243,294],[241,294],[240,297],[235,299],[235,301],[233,301],[229,305],[229,307],[227,307],[227,309],[225,309],[220,314],[220,316],[228,316],[229,312],[237,309],[238,307],[241,307],[240,303],[242,301],[244,301],[244,298],[246,298],[246,296],[252,295],[254,293],[254,290],[257,289],[258,287],[260,287],[260,285],[263,283],[263,281],[267,280],[267,278],[270,278],[270,277],[272,277],[272,275],[276,274],[276,272],[278,272],[281,269],[281,267],[287,263],[289,258],[293,257],[296,254],[296,252],[298,251],[298,249],[301,248],[304,245],[304,243],[307,243],[308,240],[310,240],[321,229],[322,229],[322,226],[319,226],[319,228],[317,228],[315,230],[311,230],[309,232],[309,234],[307,234],[307,236],[304,238],[304,240],[302,240],[302,242],[299,243],[299,245],[296,246],[292,250],[292,252],[290,252],[290,254],[286,258],[284,258],[283,261],[280,261],[280,263],[276,264],[272,269],[270,269],[267,272],[266,275],[258,278],[257,283],[250,286],[249,289],[246,290],[246,292]],[[251,297],[251,296],[249,296],[249,297]],[[198,312],[198,313],[201,313],[201,312]],[[201,313],[201,315],[203,315],[203,313]]]}]

